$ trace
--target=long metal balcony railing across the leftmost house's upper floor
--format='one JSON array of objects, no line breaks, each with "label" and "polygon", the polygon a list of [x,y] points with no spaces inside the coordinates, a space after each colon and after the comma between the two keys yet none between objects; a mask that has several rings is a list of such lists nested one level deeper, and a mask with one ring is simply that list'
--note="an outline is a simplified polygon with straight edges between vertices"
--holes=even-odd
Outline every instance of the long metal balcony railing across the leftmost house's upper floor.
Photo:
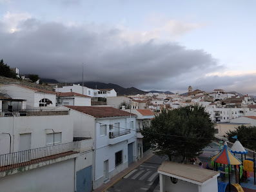
[{"label": "long metal balcony railing across the leftmost house's upper floor", "polygon": [[83,140],[0,155],[0,171],[79,153],[81,142]]}]

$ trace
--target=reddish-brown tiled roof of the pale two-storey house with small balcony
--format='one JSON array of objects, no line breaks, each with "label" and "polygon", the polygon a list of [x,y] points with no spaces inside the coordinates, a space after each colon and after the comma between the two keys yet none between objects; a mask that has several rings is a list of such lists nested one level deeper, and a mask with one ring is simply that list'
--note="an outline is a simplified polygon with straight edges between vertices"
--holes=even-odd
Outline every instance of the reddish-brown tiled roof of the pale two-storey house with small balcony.
[{"label": "reddish-brown tiled roof of the pale two-storey house with small balcony", "polygon": [[[106,118],[106,117],[130,117],[130,113],[118,110],[112,107],[95,107],[95,106],[66,106],[75,111],[80,111],[81,113],[91,115],[96,118]],[[132,116],[137,116],[131,113]]]}]

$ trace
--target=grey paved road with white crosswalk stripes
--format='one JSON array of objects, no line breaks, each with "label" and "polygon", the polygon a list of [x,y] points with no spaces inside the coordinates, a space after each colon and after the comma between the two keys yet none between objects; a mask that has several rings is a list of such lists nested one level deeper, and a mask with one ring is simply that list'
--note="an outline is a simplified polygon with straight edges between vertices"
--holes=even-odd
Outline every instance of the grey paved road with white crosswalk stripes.
[{"label": "grey paved road with white crosswalk stripes", "polygon": [[159,174],[157,169],[166,157],[153,155],[139,167],[124,176],[107,191],[159,191]]}]

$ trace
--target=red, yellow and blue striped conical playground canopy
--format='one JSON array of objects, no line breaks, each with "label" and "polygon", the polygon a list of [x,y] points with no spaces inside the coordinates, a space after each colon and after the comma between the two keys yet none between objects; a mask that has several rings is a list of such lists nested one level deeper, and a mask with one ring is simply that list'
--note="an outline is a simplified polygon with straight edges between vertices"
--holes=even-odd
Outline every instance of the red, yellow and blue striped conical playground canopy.
[{"label": "red, yellow and blue striped conical playground canopy", "polygon": [[226,164],[226,165],[240,165],[242,162],[233,156],[230,149],[228,149],[227,142],[224,143],[224,147],[222,148],[222,151],[219,152],[217,155],[215,155],[212,160],[214,162],[220,163],[220,164]]}]

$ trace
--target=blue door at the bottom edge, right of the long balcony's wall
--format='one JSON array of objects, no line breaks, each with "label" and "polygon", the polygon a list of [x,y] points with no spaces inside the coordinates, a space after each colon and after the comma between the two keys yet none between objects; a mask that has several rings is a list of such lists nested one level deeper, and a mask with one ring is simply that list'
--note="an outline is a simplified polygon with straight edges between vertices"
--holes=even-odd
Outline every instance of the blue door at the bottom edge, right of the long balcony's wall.
[{"label": "blue door at the bottom edge, right of the long balcony's wall", "polygon": [[92,191],[92,166],[77,171],[77,192]]}]

